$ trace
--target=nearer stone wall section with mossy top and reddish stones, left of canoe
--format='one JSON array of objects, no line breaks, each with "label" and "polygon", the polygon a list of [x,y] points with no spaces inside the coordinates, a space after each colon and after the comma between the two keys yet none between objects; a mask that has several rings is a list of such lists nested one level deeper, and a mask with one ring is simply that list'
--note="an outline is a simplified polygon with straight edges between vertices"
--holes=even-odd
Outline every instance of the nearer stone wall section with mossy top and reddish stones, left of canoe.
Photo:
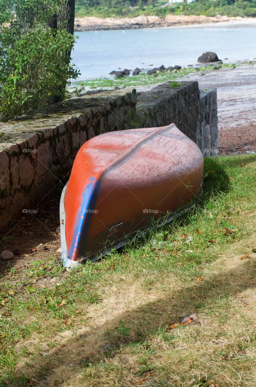
[{"label": "nearer stone wall section with mossy top and reddish stones, left of canoe", "polygon": [[135,89],[101,92],[0,124],[0,226],[30,211],[67,180],[85,141],[130,128],[136,101]]}]

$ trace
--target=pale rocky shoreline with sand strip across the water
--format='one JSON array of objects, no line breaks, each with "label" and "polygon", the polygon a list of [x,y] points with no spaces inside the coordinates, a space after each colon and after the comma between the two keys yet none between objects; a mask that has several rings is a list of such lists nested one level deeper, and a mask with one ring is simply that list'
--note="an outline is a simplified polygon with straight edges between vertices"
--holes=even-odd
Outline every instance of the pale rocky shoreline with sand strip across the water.
[{"label": "pale rocky shoreline with sand strip across the water", "polygon": [[195,16],[195,15],[166,15],[165,18],[160,16],[145,16],[137,17],[75,17],[75,31],[101,31],[114,29],[142,29],[142,28],[159,28],[159,27],[174,27],[174,26],[189,26],[195,24],[207,24],[228,22],[238,24],[254,23],[255,18],[244,17],[228,17],[217,15],[215,17]]}]

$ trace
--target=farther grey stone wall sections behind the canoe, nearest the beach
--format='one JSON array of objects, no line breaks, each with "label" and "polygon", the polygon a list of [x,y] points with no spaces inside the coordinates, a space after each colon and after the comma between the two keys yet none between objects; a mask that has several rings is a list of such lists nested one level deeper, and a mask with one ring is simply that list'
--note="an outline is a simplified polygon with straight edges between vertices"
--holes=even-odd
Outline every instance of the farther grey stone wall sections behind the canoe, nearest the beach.
[{"label": "farther grey stone wall sections behind the canoe, nearest the beach", "polygon": [[144,128],[173,122],[204,156],[217,154],[217,93],[199,91],[198,82],[166,82],[141,93],[134,121]]}]

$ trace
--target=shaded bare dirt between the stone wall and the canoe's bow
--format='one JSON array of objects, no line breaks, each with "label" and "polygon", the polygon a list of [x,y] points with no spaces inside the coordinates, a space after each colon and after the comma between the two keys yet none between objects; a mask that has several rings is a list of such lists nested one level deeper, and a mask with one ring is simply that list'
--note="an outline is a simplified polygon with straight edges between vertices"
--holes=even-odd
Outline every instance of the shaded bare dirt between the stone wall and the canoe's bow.
[{"label": "shaded bare dirt between the stone wall and the canoe's bow", "polygon": [[36,214],[24,214],[0,230],[0,252],[14,253],[10,261],[0,260],[0,274],[12,267],[22,270],[31,260],[60,259],[59,204],[60,195],[51,195],[36,206]]}]

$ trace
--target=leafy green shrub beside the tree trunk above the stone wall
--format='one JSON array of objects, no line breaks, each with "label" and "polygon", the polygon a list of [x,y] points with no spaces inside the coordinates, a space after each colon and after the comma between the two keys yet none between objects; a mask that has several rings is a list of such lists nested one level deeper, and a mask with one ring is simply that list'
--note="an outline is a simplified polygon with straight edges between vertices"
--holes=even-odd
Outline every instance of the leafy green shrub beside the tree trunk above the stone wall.
[{"label": "leafy green shrub beside the tree trunk above the stone wall", "polygon": [[[48,21],[57,0],[0,0],[0,121],[64,97],[67,79],[79,74],[67,55],[74,37]],[[3,24],[4,23],[4,24]]]}]

